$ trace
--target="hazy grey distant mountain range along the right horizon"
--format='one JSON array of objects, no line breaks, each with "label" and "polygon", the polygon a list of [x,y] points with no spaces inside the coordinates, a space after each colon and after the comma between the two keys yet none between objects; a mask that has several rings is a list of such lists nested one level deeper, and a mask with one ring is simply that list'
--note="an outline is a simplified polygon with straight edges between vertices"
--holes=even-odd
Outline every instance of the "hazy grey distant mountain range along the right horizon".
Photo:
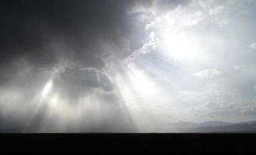
[{"label": "hazy grey distant mountain range along the right horizon", "polygon": [[172,122],[160,130],[163,133],[256,133],[256,121]]}]

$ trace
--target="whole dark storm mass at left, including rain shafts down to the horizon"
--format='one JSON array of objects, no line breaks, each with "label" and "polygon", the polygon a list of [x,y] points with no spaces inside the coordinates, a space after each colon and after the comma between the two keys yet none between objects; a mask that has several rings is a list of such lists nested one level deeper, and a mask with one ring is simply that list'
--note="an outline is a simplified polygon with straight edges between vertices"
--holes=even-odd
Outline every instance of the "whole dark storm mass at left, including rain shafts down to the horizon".
[{"label": "whole dark storm mass at left, including rain shafts down to the horizon", "polygon": [[[108,68],[102,59],[113,54],[122,61],[145,43],[145,25],[128,14],[137,2],[0,1],[0,132],[37,132],[44,126],[60,131],[59,122],[81,132],[134,131],[132,116],[106,74],[125,71],[114,62],[114,70]],[[142,5],[157,3],[168,11],[184,2]]]}]

